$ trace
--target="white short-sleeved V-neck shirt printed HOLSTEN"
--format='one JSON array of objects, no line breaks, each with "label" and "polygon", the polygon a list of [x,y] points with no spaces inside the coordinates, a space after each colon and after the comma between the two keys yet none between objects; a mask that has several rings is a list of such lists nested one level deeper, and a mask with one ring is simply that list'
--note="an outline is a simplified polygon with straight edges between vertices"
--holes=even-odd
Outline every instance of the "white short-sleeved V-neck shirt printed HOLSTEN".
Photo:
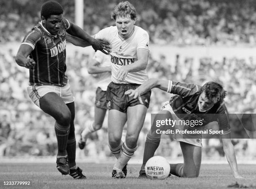
[{"label": "white short-sleeved V-neck shirt printed HOLSTEN", "polygon": [[146,70],[129,72],[123,82],[117,79],[117,72],[120,67],[133,64],[138,60],[137,50],[146,50],[149,52],[149,36],[145,30],[141,27],[134,26],[131,35],[124,39],[118,35],[116,26],[110,26],[100,30],[94,35],[94,38],[105,40],[112,46],[112,52],[110,52],[111,80],[114,83],[142,84],[148,80]]}]

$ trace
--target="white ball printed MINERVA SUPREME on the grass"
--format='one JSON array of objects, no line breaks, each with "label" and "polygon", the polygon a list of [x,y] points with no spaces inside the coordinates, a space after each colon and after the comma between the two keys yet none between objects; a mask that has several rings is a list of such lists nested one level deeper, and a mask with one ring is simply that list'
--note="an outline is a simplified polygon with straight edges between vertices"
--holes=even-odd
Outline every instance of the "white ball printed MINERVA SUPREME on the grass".
[{"label": "white ball printed MINERVA SUPREME on the grass", "polygon": [[170,173],[170,165],[164,157],[154,156],[146,162],[145,172],[150,179],[166,179]]}]

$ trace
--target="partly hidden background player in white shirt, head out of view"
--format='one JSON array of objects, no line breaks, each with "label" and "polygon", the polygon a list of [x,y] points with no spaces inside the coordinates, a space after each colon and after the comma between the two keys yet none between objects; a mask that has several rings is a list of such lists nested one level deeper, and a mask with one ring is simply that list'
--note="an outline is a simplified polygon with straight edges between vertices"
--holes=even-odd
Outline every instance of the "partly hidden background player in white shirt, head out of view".
[{"label": "partly hidden background player in white shirt, head out of view", "polygon": [[97,90],[94,106],[94,121],[90,123],[81,133],[81,139],[78,142],[79,148],[84,149],[86,140],[92,132],[101,129],[106,111],[107,99],[106,90],[108,84],[111,82],[111,64],[110,57],[104,53],[97,51],[92,57],[88,72],[90,74],[97,74]]}]

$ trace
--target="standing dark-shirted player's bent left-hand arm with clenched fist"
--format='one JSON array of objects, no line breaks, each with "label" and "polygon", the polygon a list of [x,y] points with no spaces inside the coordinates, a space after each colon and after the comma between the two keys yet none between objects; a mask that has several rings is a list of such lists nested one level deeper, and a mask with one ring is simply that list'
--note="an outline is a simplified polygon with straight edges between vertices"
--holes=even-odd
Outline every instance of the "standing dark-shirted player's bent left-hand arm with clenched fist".
[{"label": "standing dark-shirted player's bent left-hand arm with clenched fist", "polygon": [[28,55],[32,52],[33,48],[30,45],[22,44],[15,57],[15,62],[22,67],[32,68],[36,65],[36,62],[28,58]]}]

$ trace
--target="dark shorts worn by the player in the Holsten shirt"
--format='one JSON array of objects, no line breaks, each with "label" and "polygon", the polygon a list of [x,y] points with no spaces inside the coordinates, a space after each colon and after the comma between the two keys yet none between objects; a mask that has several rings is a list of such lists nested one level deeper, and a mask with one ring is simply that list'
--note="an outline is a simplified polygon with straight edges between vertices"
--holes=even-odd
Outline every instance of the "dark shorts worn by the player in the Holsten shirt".
[{"label": "dark shorts worn by the player in the Holsten shirt", "polygon": [[[140,85],[138,84],[115,84],[111,82],[107,89],[107,107],[108,109],[116,109],[120,112],[127,112],[129,106],[141,104],[138,99],[133,99],[125,94],[126,91],[135,90]],[[150,102],[151,91],[141,95],[142,102],[148,108]]]}]

